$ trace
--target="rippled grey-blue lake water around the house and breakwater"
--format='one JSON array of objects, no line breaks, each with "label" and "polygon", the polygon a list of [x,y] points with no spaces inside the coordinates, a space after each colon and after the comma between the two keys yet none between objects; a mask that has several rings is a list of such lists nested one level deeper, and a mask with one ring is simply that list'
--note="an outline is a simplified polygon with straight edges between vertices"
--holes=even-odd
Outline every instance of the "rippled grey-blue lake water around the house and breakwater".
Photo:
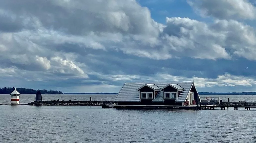
[{"label": "rippled grey-blue lake water around the house and breakwater", "polygon": [[[90,96],[95,101],[111,101],[116,95],[42,95],[44,100],[89,100]],[[215,96],[223,100],[229,97],[230,101],[256,101],[255,96]],[[9,97],[0,95],[0,101],[9,103]],[[28,103],[34,101],[35,95],[20,98],[22,103]],[[0,105],[0,142],[251,143],[256,138],[255,120],[255,110]]]}]

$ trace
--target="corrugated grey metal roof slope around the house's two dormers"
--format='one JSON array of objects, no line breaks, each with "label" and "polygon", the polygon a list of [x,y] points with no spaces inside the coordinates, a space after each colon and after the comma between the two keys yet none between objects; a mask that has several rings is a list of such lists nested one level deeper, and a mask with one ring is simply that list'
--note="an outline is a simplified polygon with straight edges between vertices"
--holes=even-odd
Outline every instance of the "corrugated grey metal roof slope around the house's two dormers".
[{"label": "corrugated grey metal roof slope around the house's two dormers", "polygon": [[[165,87],[167,84],[178,84],[180,87],[184,88],[186,91],[181,92],[178,99],[175,101],[177,102],[185,102],[187,95],[190,91],[190,88],[193,85],[193,82],[125,82],[123,87],[121,88],[120,92],[115,98],[116,102],[140,102],[141,99],[139,97],[140,92],[136,91],[136,89],[142,87],[145,84],[155,84],[160,89]],[[162,93],[163,94],[163,93]],[[160,100],[161,92],[159,92],[157,99],[154,99],[154,102]]]}]

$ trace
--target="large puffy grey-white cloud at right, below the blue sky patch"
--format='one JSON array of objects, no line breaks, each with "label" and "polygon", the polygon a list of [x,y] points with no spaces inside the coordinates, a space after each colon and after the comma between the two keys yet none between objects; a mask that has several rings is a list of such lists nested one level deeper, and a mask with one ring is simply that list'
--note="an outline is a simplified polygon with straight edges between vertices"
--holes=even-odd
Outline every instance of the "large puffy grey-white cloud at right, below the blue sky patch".
[{"label": "large puffy grey-white cloud at right, below the blue sky patch", "polygon": [[[230,59],[241,56],[255,60],[255,30],[234,20],[215,20],[206,24],[189,18],[166,18],[164,30],[168,47],[177,51],[176,55],[199,59]],[[170,50],[171,50],[170,49]],[[248,52],[248,53],[247,53]],[[255,55],[256,53],[253,53]]]}]

